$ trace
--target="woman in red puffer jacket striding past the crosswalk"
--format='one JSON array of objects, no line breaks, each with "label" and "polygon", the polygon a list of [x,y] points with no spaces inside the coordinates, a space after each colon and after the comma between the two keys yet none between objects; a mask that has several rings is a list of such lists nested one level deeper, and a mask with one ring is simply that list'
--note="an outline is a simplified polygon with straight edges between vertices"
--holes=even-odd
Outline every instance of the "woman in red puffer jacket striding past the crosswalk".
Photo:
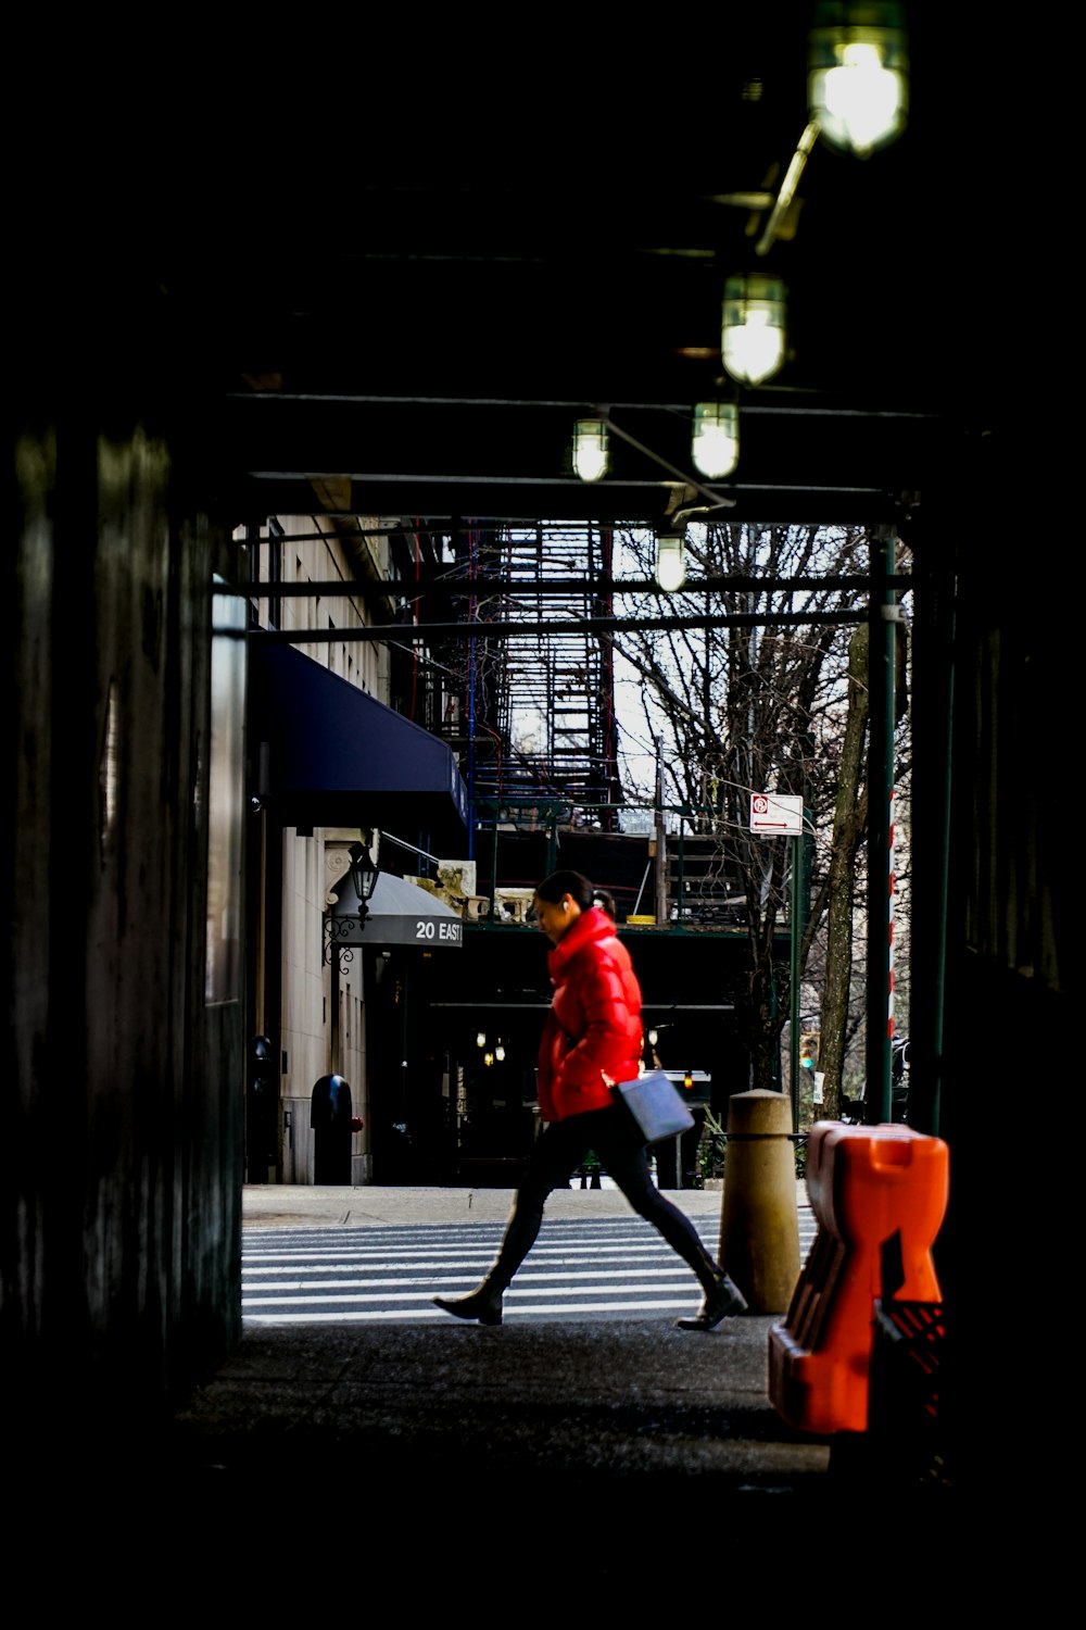
[{"label": "woman in red puffer jacket striding past the crosswalk", "polygon": [[615,1081],[633,1081],[642,1060],[642,989],[630,954],[615,934],[602,896],[580,872],[552,872],[536,888],[536,921],[552,942],[554,999],[539,1043],[539,1108],[547,1123],[536,1139],[506,1224],[498,1258],[471,1296],[435,1296],[458,1319],[501,1324],[501,1296],[532,1249],[554,1188],[594,1149],[633,1209],[656,1227],[694,1270],[705,1293],[681,1330],[715,1330],[746,1301],[708,1255],[697,1229],[653,1183],[642,1133]]}]

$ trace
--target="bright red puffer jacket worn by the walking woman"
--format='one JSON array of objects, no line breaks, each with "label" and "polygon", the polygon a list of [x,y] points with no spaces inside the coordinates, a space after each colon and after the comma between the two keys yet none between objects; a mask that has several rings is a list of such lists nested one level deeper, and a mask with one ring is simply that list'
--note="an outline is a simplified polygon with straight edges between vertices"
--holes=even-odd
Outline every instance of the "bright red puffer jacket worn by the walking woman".
[{"label": "bright red puffer jacket worn by the walking woman", "polygon": [[642,1060],[642,988],[614,923],[589,906],[550,952],[554,1001],[539,1043],[539,1112],[565,1120],[612,1104]]}]

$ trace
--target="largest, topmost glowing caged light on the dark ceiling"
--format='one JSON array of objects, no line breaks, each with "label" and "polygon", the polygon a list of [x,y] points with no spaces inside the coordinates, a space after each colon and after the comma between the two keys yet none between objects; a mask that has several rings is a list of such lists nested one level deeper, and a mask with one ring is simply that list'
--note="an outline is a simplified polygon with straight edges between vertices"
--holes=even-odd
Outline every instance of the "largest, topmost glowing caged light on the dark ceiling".
[{"label": "largest, topmost glowing caged light on the dark ceiling", "polygon": [[909,119],[904,7],[882,0],[816,5],[808,34],[808,108],[830,147],[869,158]]}]

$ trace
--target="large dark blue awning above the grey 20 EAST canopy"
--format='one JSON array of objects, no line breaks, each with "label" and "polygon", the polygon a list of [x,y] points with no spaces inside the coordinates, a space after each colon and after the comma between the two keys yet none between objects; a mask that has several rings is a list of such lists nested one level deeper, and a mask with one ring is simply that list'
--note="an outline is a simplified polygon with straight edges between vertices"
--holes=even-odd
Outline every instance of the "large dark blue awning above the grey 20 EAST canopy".
[{"label": "large dark blue awning above the grey 20 EAST canopy", "polygon": [[467,789],[449,747],[293,645],[249,637],[254,791],[283,826],[379,826],[464,852]]}]

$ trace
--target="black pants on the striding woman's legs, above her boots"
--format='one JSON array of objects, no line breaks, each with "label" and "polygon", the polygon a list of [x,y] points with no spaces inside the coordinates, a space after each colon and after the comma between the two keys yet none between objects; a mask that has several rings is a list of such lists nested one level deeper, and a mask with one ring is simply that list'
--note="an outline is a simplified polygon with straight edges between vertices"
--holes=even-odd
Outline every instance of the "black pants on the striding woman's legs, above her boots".
[{"label": "black pants on the striding woman's legs, above her boots", "polygon": [[702,1289],[720,1280],[720,1268],[708,1255],[685,1211],[666,1200],[648,1170],[642,1133],[622,1104],[552,1121],[536,1139],[528,1170],[513,1203],[498,1260],[487,1283],[505,1291],[536,1244],[544,1206],[552,1190],[565,1187],[593,1149],[638,1216],[663,1234],[672,1250],[694,1270]]}]

